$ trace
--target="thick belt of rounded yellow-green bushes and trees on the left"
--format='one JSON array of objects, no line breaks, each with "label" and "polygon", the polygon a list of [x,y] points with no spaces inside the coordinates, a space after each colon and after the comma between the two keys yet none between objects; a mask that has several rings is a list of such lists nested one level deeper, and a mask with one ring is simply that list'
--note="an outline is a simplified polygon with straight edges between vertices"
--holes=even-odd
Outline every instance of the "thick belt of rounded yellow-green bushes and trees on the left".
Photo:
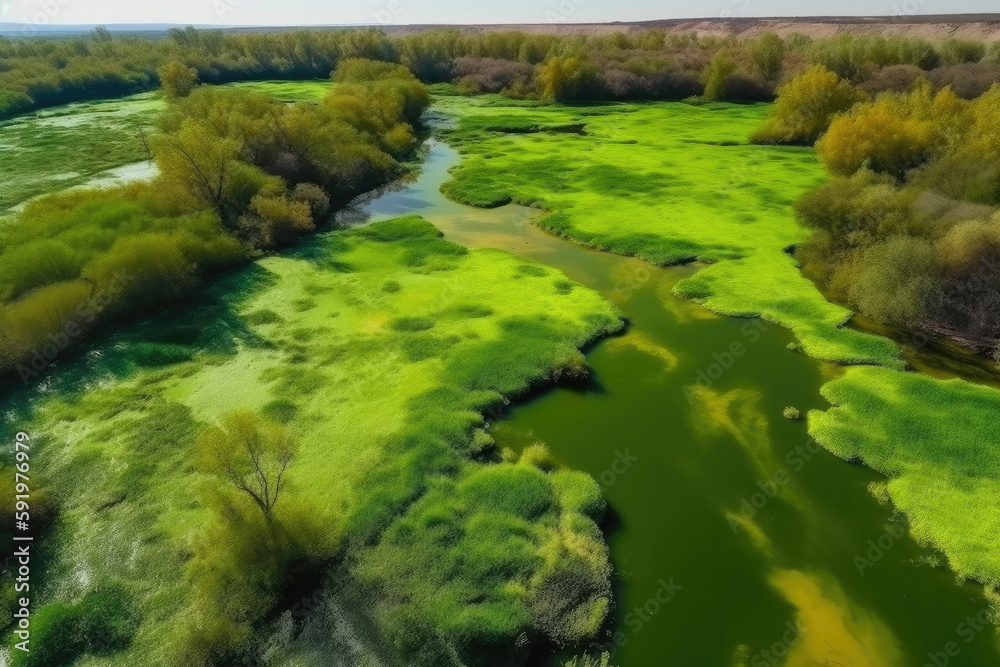
[{"label": "thick belt of rounded yellow-green bushes and trees on the left", "polygon": [[428,103],[398,65],[348,60],[320,104],[199,87],[151,139],[151,183],[30,202],[0,229],[0,370],[25,381],[108,321],[292,243],[401,173]]}]

